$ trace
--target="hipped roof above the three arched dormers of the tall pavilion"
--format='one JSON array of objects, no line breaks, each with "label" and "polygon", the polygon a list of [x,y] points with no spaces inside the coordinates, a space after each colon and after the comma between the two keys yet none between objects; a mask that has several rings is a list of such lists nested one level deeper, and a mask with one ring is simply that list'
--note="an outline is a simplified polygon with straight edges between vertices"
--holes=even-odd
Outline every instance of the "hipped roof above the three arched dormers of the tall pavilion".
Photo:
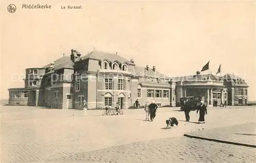
[{"label": "hipped roof above the three arched dormers of the tall pavilion", "polygon": [[94,59],[94,60],[109,60],[111,62],[118,61],[121,63],[127,62],[129,65],[135,65],[134,63],[130,62],[129,60],[126,60],[122,58],[121,56],[117,55],[116,53],[108,53],[103,51],[92,51],[88,55],[81,58],[82,60],[85,59]]}]

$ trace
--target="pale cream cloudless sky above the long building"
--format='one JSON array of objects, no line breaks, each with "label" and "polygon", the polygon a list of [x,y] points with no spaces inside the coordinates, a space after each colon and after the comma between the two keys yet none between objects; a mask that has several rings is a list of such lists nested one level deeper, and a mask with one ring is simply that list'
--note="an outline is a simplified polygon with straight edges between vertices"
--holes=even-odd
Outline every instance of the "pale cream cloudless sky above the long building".
[{"label": "pale cream cloudless sky above the long building", "polygon": [[[51,9],[22,9],[41,2]],[[15,13],[7,6],[14,4]],[[81,5],[81,10],[61,9]],[[1,98],[29,67],[42,67],[76,48],[116,52],[168,76],[193,75],[210,60],[216,74],[234,73],[255,101],[254,1],[2,1]],[[13,79],[12,79],[12,76]],[[23,77],[23,76],[22,76]]]}]

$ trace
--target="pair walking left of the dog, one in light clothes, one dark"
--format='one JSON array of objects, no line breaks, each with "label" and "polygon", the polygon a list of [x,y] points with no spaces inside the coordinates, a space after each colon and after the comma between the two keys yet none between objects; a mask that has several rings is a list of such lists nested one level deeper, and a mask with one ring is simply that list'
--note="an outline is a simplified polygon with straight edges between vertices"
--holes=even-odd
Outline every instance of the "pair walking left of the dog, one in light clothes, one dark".
[{"label": "pair walking left of the dog, one in light clothes, one dark", "polygon": [[146,100],[145,103],[145,112],[146,112],[146,120],[153,121],[156,117],[157,104],[155,100]]}]

